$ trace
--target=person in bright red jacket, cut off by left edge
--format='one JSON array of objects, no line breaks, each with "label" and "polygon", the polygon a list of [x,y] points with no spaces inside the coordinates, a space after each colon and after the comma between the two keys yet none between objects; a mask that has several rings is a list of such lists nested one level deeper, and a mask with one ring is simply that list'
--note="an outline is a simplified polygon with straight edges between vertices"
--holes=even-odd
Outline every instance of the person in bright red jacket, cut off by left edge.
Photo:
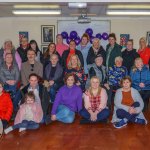
[{"label": "person in bright red jacket, cut off by left edge", "polygon": [[13,112],[13,104],[8,93],[3,91],[3,84],[0,82],[0,135],[3,128],[6,128]]}]

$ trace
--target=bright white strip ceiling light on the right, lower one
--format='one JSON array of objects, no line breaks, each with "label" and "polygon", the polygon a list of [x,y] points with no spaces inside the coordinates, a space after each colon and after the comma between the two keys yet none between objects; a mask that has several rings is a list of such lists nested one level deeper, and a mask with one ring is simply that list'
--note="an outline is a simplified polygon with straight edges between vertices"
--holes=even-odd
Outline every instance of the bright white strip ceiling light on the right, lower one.
[{"label": "bright white strip ceiling light on the right, lower one", "polygon": [[150,15],[150,11],[108,10],[107,15]]}]

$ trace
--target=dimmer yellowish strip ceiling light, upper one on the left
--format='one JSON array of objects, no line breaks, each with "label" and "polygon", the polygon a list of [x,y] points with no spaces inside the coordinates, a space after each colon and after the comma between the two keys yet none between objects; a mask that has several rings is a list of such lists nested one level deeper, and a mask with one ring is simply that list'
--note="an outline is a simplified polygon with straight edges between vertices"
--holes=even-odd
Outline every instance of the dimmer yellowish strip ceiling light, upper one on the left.
[{"label": "dimmer yellowish strip ceiling light, upper one on the left", "polygon": [[60,8],[59,5],[14,5],[13,6],[14,8],[16,9],[40,9],[40,8],[43,8],[43,9],[48,9],[48,8],[51,8],[51,9],[58,9]]}]

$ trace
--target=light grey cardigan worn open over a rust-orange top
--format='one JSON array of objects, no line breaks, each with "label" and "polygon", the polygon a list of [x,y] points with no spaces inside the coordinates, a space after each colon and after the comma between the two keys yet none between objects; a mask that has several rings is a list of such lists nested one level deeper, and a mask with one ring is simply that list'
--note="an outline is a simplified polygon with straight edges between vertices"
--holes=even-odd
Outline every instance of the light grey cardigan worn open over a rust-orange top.
[{"label": "light grey cardigan worn open over a rust-orange top", "polygon": [[[147,120],[145,119],[145,117],[142,113],[144,103],[143,103],[143,100],[141,98],[140,93],[136,89],[131,88],[131,96],[132,96],[134,102],[139,102],[140,103],[140,106],[136,107],[136,111],[138,113],[137,117],[140,118],[140,119],[144,119],[147,122]],[[118,121],[121,120],[121,119],[117,118],[117,115],[116,115],[116,110],[117,109],[123,109],[125,111],[128,111],[128,109],[129,109],[129,106],[123,105],[121,102],[122,102],[122,88],[118,89],[116,91],[116,94],[115,94],[114,112],[113,112],[113,117],[112,117],[112,120],[111,120],[112,123],[118,122]]]}]

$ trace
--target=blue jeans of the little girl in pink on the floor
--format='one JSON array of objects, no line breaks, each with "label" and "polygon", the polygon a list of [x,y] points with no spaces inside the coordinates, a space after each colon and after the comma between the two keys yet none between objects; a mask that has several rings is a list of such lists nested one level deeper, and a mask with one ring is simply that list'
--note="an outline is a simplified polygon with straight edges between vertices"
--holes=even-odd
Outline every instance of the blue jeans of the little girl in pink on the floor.
[{"label": "blue jeans of the little girl in pink on the floor", "polygon": [[26,129],[38,129],[39,124],[34,122],[34,121],[27,121],[23,120],[21,123],[18,123],[14,126],[12,126],[13,129],[18,129],[18,128],[26,128]]}]

